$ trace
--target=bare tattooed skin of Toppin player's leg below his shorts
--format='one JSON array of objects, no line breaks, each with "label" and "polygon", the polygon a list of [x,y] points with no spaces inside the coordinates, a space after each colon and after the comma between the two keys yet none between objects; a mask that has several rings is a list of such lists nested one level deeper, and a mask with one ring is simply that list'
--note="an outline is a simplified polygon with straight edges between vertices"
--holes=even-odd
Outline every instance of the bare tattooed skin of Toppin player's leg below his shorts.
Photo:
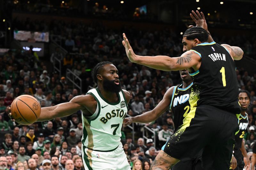
[{"label": "bare tattooed skin of Toppin player's leg below his shorts", "polygon": [[163,150],[161,150],[157,154],[150,169],[151,170],[169,170],[172,166],[174,166],[179,161],[180,161],[179,159],[173,158],[167,153],[165,153]]}]

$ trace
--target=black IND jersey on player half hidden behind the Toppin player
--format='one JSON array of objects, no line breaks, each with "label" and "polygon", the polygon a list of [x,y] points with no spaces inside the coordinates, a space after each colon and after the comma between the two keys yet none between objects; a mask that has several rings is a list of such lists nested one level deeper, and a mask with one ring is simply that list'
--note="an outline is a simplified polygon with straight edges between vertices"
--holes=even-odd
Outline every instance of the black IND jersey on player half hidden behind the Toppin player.
[{"label": "black IND jersey on player half hidden behind the Toppin player", "polygon": [[180,125],[183,124],[183,119],[188,115],[188,112],[190,111],[190,105],[188,102],[189,99],[189,93],[190,93],[190,87],[193,85],[193,82],[185,89],[182,88],[181,84],[179,87],[174,86],[173,92],[172,92],[172,101],[170,104],[170,109],[172,110],[174,114],[174,127],[175,132],[178,129]]}]

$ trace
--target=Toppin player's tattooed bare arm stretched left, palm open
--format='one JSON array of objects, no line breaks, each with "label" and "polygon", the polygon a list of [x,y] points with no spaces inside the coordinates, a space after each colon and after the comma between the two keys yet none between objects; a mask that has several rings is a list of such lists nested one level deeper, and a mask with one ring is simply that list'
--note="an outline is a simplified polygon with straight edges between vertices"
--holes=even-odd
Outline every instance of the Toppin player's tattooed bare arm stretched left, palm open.
[{"label": "Toppin player's tattooed bare arm stretched left, palm open", "polygon": [[169,57],[164,55],[157,56],[140,56],[136,55],[132,47],[123,33],[124,41],[122,41],[126,55],[132,63],[137,63],[140,65],[145,65],[147,67],[163,70],[163,71],[177,71],[183,69],[189,69],[193,67],[194,70],[198,70],[200,67],[201,58],[198,54],[193,51],[187,51],[183,53],[180,57]]}]

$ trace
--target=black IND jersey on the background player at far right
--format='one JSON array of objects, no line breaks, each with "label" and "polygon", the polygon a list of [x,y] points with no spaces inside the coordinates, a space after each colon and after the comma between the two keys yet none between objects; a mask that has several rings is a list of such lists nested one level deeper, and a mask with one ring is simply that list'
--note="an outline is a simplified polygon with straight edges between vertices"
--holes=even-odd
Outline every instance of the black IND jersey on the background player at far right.
[{"label": "black IND jersey on the background player at far right", "polygon": [[239,132],[236,134],[235,136],[235,149],[240,149],[241,148],[241,144],[242,144],[242,140],[244,138],[244,134],[246,132],[247,126],[248,126],[248,115],[247,113],[245,113],[245,116],[240,115],[239,116]]}]

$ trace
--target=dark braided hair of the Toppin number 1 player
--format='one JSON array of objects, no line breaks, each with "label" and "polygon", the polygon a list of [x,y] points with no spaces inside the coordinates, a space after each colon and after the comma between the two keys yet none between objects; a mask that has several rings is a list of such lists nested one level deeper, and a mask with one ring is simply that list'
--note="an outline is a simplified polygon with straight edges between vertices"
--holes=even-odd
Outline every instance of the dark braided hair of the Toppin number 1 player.
[{"label": "dark braided hair of the Toppin number 1 player", "polygon": [[201,42],[207,41],[208,36],[209,34],[207,33],[207,31],[199,26],[193,26],[191,28],[188,28],[183,34],[183,37],[187,37],[187,40],[194,40],[197,38]]}]

